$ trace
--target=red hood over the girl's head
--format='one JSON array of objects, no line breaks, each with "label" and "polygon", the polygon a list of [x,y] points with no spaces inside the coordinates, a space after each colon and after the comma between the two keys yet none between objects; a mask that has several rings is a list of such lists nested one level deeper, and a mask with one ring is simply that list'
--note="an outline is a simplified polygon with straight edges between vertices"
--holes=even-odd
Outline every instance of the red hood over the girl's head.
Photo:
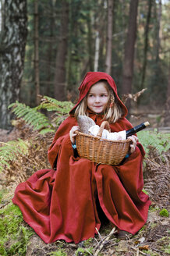
[{"label": "red hood over the girl's head", "polygon": [[117,94],[117,87],[115,85],[115,81],[112,79],[112,76],[109,76],[107,73],[104,72],[88,72],[84,78],[83,81],[80,84],[79,91],[80,91],[80,96],[79,100],[76,103],[76,105],[72,108],[72,110],[69,112],[69,114],[73,114],[77,105],[80,104],[80,101],[83,100],[83,98],[87,95],[88,91],[90,90],[90,87],[94,84],[96,84],[99,80],[107,80],[108,84],[110,87],[112,87],[116,98],[119,101],[119,105],[122,108],[122,112],[124,113],[122,117],[127,115],[127,108],[126,106],[122,103],[120,100],[118,94]]}]

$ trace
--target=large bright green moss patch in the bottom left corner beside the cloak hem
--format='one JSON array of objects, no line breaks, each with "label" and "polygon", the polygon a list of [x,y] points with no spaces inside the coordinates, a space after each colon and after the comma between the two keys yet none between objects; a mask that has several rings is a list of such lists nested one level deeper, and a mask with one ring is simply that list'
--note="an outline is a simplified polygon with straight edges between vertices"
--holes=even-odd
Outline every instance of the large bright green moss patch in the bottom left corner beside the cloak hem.
[{"label": "large bright green moss patch in the bottom left corner beside the cloak hem", "polygon": [[12,202],[0,210],[0,255],[26,255],[34,231],[24,225],[22,213]]}]

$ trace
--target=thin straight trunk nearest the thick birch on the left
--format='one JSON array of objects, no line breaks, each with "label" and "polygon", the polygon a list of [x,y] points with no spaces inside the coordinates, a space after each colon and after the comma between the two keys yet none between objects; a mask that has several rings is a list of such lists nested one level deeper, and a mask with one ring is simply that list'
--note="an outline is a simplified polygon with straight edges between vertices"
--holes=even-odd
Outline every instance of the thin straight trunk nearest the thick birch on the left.
[{"label": "thin straight trunk nearest the thick birch on the left", "polygon": [[36,104],[40,100],[40,71],[39,71],[39,37],[38,37],[38,0],[34,0],[34,83],[36,91]]}]

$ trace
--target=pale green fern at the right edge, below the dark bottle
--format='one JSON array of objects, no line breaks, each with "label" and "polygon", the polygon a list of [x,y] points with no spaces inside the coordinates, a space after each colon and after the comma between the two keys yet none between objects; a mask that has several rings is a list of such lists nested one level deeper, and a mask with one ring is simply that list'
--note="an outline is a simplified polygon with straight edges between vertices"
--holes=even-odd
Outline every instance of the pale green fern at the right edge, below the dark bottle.
[{"label": "pale green fern at the right edge, below the dark bottle", "polygon": [[161,155],[163,151],[168,151],[170,149],[170,133],[158,133],[156,131],[140,131],[137,136],[143,144],[143,148],[146,153],[149,153],[150,146],[156,148]]}]

